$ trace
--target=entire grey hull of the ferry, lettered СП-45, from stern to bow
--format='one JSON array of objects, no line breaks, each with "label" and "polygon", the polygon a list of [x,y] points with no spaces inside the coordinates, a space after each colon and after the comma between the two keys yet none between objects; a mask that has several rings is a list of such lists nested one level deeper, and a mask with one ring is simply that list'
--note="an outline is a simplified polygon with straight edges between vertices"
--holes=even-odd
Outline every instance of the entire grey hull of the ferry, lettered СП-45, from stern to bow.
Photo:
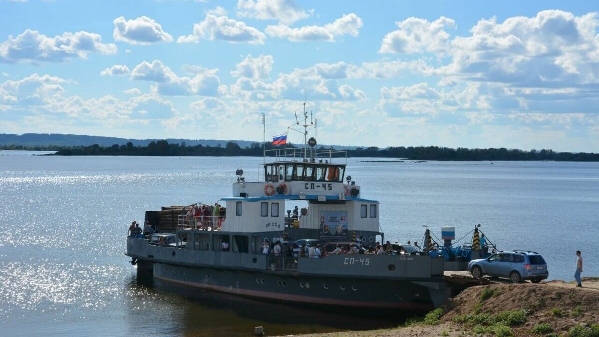
[{"label": "entire grey hull of the ferry, lettered \u0421\u041f-45, from stern to bow", "polygon": [[138,273],[196,288],[310,305],[426,311],[449,288],[443,260],[412,255],[283,258],[149,245],[128,239]]}]

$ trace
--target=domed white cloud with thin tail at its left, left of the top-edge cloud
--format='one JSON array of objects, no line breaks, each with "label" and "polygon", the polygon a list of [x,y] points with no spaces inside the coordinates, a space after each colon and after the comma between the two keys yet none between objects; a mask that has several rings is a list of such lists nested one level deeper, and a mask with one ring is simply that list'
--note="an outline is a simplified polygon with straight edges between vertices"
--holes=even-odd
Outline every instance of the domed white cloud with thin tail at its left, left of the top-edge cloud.
[{"label": "domed white cloud with thin tail at its left, left of the top-edge cloud", "polygon": [[193,25],[192,35],[182,35],[177,43],[198,43],[199,40],[221,40],[229,43],[264,44],[266,35],[258,29],[226,16],[207,14],[204,21]]}]

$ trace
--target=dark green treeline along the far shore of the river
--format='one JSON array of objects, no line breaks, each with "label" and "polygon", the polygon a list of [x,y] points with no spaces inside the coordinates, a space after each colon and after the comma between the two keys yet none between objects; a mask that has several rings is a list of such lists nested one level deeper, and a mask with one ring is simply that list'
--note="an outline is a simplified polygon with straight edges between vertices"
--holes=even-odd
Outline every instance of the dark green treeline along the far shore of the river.
[{"label": "dark green treeline along the far shore of the river", "polygon": [[[273,146],[267,143],[267,149],[293,148],[293,145]],[[246,148],[241,148],[237,143],[228,142],[222,146],[188,146],[183,143],[168,143],[167,140],[150,142],[148,146],[134,146],[128,142],[126,145],[114,144],[113,146],[0,146],[5,150],[37,150],[57,151],[56,155],[134,155],[134,156],[247,156],[261,157],[262,144],[252,143]],[[323,148],[321,148],[323,149]],[[551,161],[599,161],[599,154],[553,152],[552,150],[522,151],[519,149],[466,149],[466,148],[440,148],[438,146],[398,146],[379,149],[377,147],[356,148],[347,150],[350,157],[371,158],[407,158],[409,160],[551,160]]]}]

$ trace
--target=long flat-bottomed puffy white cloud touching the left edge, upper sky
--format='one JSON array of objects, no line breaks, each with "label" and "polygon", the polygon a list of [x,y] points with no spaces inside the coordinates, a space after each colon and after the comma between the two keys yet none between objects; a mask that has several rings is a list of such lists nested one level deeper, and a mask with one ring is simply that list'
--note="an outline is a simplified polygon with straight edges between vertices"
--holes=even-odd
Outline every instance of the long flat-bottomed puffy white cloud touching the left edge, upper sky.
[{"label": "long flat-bottomed puffy white cloud touching the left edge, upper sky", "polygon": [[86,59],[88,53],[116,54],[114,44],[101,41],[100,35],[84,31],[65,32],[52,38],[27,29],[17,37],[10,35],[8,40],[0,43],[0,61],[65,62],[71,58]]}]

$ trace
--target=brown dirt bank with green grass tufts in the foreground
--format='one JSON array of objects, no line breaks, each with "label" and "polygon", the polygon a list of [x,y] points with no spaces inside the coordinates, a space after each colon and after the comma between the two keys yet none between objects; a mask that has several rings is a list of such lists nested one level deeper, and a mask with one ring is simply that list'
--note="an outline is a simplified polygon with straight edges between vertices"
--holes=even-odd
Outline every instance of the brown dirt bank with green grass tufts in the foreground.
[{"label": "brown dirt bank with green grass tufts in the foreground", "polygon": [[599,337],[599,278],[471,287],[444,308],[395,329],[301,335]]}]

